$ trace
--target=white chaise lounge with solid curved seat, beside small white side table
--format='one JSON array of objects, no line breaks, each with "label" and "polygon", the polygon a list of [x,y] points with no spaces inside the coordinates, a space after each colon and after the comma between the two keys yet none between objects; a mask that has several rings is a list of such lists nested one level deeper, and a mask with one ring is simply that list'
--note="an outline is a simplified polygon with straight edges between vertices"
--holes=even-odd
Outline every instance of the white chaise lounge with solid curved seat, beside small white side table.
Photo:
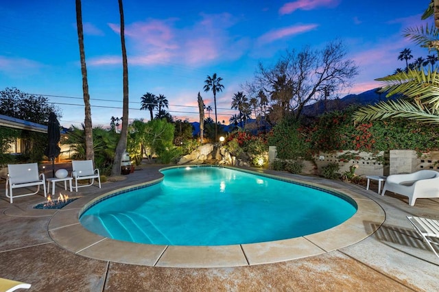
[{"label": "white chaise lounge with solid curved seat, beside small white side table", "polygon": [[420,170],[408,174],[392,174],[385,181],[383,193],[390,191],[409,198],[409,205],[414,206],[416,199],[439,197],[439,172]]}]

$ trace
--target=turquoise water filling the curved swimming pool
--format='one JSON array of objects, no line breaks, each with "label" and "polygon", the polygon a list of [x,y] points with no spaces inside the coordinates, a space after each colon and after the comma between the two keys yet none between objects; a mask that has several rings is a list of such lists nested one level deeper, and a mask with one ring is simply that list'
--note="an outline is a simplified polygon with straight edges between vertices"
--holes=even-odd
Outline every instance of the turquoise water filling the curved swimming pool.
[{"label": "turquoise water filling the curved swimming pool", "polygon": [[233,245],[304,236],[346,221],[353,202],[308,186],[218,167],[162,171],[163,182],[80,216],[102,236],[155,245]]}]

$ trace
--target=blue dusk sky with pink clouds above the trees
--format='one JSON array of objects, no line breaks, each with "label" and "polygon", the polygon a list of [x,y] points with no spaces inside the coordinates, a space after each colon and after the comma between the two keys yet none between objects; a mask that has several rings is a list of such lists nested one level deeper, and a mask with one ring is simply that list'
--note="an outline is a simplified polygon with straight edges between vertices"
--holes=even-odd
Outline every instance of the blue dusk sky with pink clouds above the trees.
[{"label": "blue dusk sky with pink clouds above the trees", "polygon": [[[322,48],[340,39],[359,66],[352,88],[361,93],[396,68],[399,52],[412,49],[403,29],[420,25],[429,0],[298,1],[141,1],[125,0],[130,119],[145,119],[140,98],[150,92],[169,100],[176,119],[198,121],[197,95],[207,75],[217,73],[224,90],[217,94],[218,120],[234,110],[230,102],[250,82],[258,62],[274,64],[286,49]],[[82,0],[82,21],[93,125],[121,117],[123,92],[119,6],[116,0]],[[425,23],[425,22],[424,22]],[[0,90],[16,87],[46,95],[62,110],[65,127],[84,121],[82,75],[75,1],[0,2]],[[213,114],[213,112],[212,112]]]}]

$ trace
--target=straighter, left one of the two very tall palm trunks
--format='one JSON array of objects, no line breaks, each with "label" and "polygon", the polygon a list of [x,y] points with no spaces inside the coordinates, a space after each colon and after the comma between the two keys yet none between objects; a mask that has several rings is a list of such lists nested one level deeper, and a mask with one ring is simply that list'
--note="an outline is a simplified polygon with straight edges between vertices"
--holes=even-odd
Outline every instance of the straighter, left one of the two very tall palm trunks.
[{"label": "straighter, left one of the two very tall palm trunks", "polygon": [[84,32],[82,29],[82,8],[81,0],[76,0],[76,26],[78,27],[78,42],[80,45],[81,73],[82,73],[82,92],[84,93],[84,133],[85,133],[85,152],[87,160],[95,160],[93,151],[93,125],[91,123],[90,95],[88,94],[87,66],[85,63],[84,51]]}]

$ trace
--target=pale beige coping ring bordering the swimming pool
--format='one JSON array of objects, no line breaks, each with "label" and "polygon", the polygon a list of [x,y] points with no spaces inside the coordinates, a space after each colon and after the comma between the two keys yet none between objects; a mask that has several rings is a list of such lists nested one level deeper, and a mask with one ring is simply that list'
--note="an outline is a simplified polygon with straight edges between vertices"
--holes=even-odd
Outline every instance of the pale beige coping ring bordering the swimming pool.
[{"label": "pale beige coping ring bordering the swimming pool", "polygon": [[[170,168],[176,167],[165,167],[163,169]],[[355,193],[348,185],[346,185],[346,188],[333,188],[316,182],[287,178],[262,171],[228,166],[226,168],[286,182],[306,184],[336,193],[348,200],[353,200],[357,204],[357,212],[344,223],[322,232],[281,241],[241,245],[147,245],[108,239],[82,227],[78,219],[79,215],[96,200],[117,192],[127,191],[145,184],[155,184],[163,180],[163,178],[158,178],[142,184],[118,188],[95,198],[82,197],[77,199],[72,206],[68,205],[54,213],[47,226],[49,236],[60,247],[74,254],[116,263],[154,267],[239,267],[278,263],[339,250],[342,247],[366,239],[385,220],[385,213],[379,204],[364,195]]]}]

